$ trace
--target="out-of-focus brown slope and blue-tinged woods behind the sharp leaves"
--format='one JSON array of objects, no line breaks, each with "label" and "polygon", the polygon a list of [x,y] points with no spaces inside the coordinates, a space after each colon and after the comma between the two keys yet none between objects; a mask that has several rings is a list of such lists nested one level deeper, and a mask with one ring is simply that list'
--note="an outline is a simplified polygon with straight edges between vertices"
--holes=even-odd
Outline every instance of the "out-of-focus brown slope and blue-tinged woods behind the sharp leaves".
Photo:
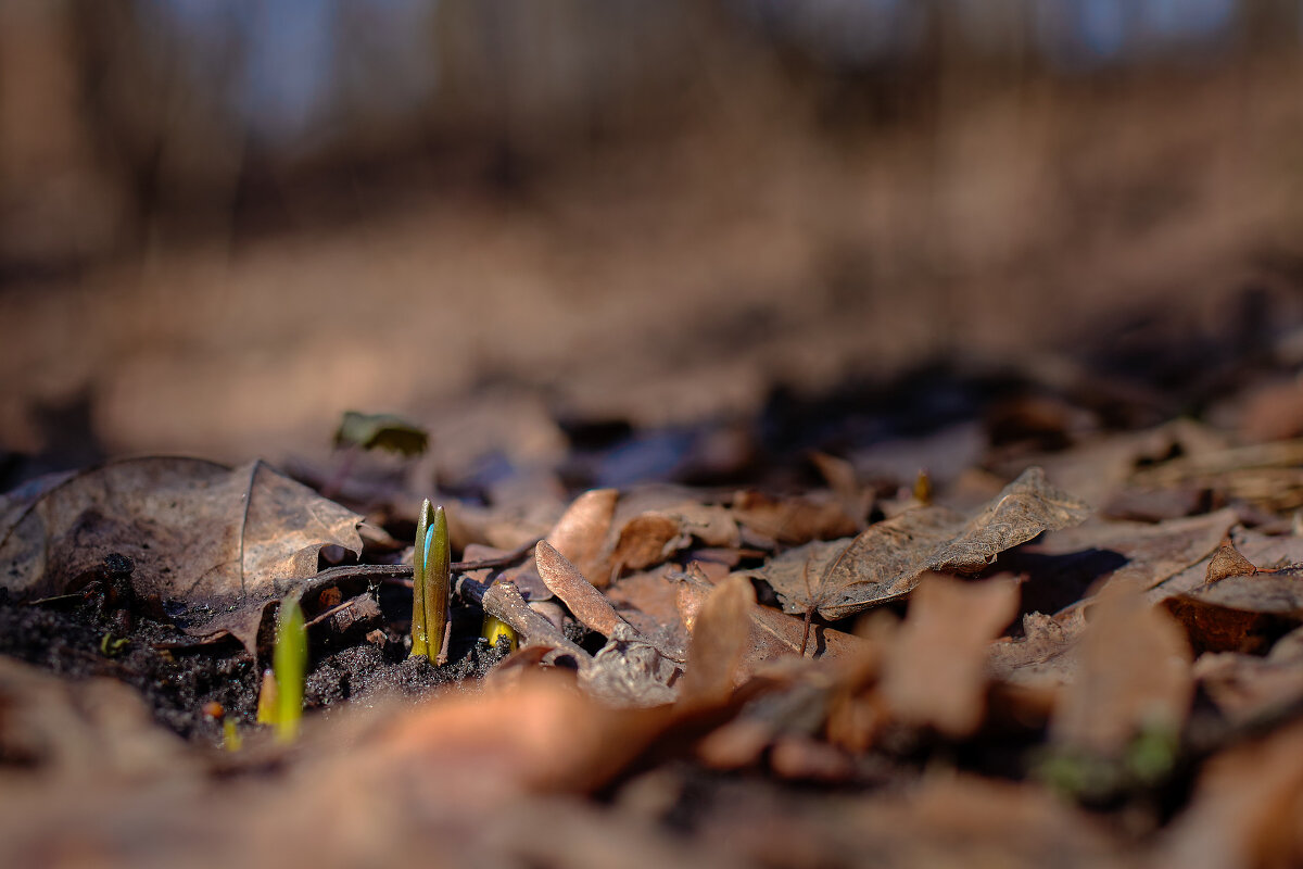
[{"label": "out-of-focus brown slope and blue-tinged woods behind the sharp leaves", "polygon": [[938,363],[1181,386],[1303,322],[1300,46],[1299,0],[5,0],[5,482],[349,408],[524,465]]}]

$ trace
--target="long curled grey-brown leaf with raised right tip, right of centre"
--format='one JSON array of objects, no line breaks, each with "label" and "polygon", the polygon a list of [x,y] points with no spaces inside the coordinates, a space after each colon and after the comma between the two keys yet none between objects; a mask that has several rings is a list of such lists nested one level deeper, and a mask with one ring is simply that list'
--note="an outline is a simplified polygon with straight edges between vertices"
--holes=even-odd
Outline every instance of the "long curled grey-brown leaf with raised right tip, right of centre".
[{"label": "long curled grey-brown leaf with raised right tip, right of centre", "polygon": [[911,509],[870,525],[850,543],[810,543],[751,571],[786,612],[842,619],[908,594],[924,571],[971,572],[1048,529],[1076,525],[1089,508],[1029,468],[971,517],[945,507]]}]

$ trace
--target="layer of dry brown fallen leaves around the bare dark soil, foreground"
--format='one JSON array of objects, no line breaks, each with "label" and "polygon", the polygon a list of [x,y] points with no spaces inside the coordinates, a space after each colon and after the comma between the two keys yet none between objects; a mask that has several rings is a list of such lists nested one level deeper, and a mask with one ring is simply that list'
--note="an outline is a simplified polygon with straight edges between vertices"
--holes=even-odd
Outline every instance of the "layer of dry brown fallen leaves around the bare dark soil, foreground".
[{"label": "layer of dry brown fallen leaves around the bare dark soil, foreground", "polygon": [[[967,507],[904,499],[860,526],[853,469],[823,465],[837,495],[595,490],[517,563],[477,548],[490,562],[466,567],[457,606],[519,634],[483,687],[309,715],[289,749],[253,734],[240,753],[192,750],[120,685],[0,659],[0,855],[141,865],[147,840],[160,865],[1303,857],[1300,538],[1250,526],[1243,506],[1139,498],[1130,481],[1165,479],[1149,465],[1100,492],[1131,519],[1031,468]],[[270,601],[315,588],[322,546],[357,548],[356,516],[262,465],[120,463],[0,515],[10,594],[66,594],[117,551],[139,563],[138,593],[225,607],[192,629],[241,640]]]}]

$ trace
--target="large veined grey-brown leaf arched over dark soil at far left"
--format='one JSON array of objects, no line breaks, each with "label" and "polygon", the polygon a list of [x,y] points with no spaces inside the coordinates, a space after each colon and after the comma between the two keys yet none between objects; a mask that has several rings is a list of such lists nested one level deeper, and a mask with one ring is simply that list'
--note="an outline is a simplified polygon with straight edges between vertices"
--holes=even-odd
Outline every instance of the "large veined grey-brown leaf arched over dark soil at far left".
[{"label": "large veined grey-brown leaf arched over dark soil at far left", "polygon": [[317,573],[321,548],[361,551],[362,517],[262,461],[130,459],[66,478],[0,515],[0,585],[20,599],[66,593],[120,552],[136,594],[184,605],[197,637],[254,650],[263,608]]}]

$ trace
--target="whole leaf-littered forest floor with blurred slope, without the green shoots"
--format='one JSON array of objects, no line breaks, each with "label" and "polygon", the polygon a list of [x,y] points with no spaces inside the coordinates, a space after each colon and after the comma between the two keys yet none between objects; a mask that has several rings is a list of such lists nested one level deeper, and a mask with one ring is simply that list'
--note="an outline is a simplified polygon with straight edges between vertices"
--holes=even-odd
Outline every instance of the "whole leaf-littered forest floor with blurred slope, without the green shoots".
[{"label": "whole leaf-littered forest floor with blurred slope, without the green shoots", "polygon": [[[1269,78],[1023,94],[928,160],[741,104],[650,162],[7,288],[0,862],[1299,862]],[[429,449],[331,451],[348,408]]]}]

